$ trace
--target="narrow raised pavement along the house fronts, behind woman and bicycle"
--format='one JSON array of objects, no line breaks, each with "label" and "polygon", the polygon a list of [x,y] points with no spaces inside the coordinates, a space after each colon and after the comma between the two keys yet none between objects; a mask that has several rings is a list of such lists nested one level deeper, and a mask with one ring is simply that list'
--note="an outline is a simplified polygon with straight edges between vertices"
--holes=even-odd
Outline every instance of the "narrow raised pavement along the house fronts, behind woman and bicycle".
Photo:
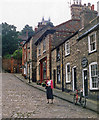
[{"label": "narrow raised pavement along the house fronts, behind woman and bicycle", "polygon": [[[45,87],[42,87],[42,85],[37,85],[35,82],[32,82],[32,81],[29,83],[29,80],[25,79],[22,76],[22,74],[14,74],[14,76],[16,76],[19,80],[28,84],[29,86],[34,87],[36,89],[39,89],[43,92],[46,92]],[[73,103],[73,94],[71,94],[71,93],[62,92],[61,90],[54,88],[53,89],[53,95],[55,97],[58,97],[58,98],[62,99],[62,100]],[[77,104],[77,105],[80,105],[80,104]],[[85,109],[90,109],[90,110],[92,110],[94,112],[97,112],[99,114],[99,101],[94,101],[94,100],[91,100],[91,99],[87,99]]]}]

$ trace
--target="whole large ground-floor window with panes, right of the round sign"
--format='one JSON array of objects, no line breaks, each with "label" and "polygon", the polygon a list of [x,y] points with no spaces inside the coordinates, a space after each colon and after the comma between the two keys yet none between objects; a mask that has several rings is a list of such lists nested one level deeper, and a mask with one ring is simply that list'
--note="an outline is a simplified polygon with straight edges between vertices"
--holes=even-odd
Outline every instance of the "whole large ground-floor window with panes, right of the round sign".
[{"label": "whole large ground-floor window with panes, right of the round sign", "polygon": [[97,62],[93,62],[89,65],[90,72],[90,89],[98,89],[98,65]]}]

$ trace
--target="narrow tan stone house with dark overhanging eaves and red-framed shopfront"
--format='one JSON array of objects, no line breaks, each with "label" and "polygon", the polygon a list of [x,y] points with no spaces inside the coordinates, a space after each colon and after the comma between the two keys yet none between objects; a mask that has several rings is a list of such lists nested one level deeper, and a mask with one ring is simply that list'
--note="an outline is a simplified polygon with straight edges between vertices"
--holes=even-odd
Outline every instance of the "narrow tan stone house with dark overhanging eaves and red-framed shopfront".
[{"label": "narrow tan stone house with dark overhanging eaves and red-framed shopfront", "polygon": [[51,51],[51,39],[54,32],[53,24],[48,21],[44,21],[38,24],[38,30],[35,34],[35,45],[37,47],[37,69],[36,69],[36,78],[37,81],[47,79],[47,76],[50,76],[50,51]]}]

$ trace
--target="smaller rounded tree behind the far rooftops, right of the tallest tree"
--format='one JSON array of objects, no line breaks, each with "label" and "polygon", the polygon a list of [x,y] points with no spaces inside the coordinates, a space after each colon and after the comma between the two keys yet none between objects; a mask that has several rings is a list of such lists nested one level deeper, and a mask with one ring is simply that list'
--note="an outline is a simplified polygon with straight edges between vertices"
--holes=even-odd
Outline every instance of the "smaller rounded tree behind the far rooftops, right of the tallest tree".
[{"label": "smaller rounded tree behind the far rooftops, right of the tallest tree", "polygon": [[21,35],[26,36],[27,33],[28,33],[28,37],[31,37],[34,34],[32,27],[29,25],[25,25],[25,27],[21,31]]}]

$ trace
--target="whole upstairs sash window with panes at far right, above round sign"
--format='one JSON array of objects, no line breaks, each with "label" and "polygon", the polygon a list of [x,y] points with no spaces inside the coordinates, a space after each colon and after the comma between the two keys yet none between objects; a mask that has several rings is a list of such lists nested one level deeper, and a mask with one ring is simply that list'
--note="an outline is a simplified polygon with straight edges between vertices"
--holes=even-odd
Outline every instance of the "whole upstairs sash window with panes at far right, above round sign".
[{"label": "whole upstairs sash window with panes at far right, above round sign", "polygon": [[89,53],[96,51],[96,32],[88,36]]}]

